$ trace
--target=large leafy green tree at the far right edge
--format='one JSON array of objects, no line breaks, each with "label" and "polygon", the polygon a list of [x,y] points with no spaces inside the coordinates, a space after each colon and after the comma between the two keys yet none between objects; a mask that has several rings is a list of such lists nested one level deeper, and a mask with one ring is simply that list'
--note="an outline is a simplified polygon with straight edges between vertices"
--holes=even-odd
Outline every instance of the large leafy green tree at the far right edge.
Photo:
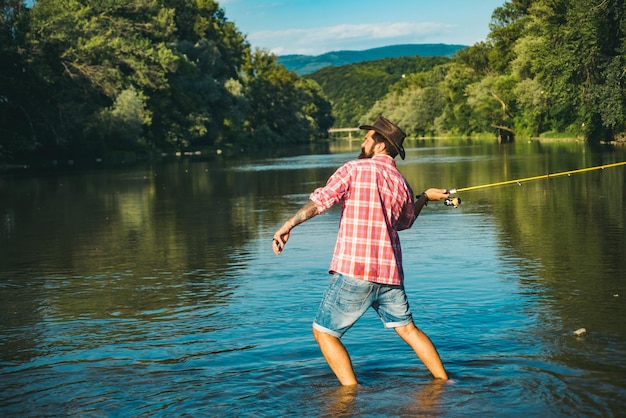
[{"label": "large leafy green tree at the far right edge", "polygon": [[592,141],[624,129],[624,3],[539,1],[520,48],[528,78],[546,97],[549,119]]}]

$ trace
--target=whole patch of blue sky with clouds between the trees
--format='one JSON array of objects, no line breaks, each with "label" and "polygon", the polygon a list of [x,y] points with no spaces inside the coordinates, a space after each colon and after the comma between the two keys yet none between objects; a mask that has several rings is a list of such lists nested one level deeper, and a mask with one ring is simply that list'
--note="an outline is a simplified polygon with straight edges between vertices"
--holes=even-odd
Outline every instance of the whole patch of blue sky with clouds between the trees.
[{"label": "whole patch of blue sky with clouds between the trees", "polygon": [[505,0],[218,0],[253,48],[320,55],[398,44],[473,45]]}]

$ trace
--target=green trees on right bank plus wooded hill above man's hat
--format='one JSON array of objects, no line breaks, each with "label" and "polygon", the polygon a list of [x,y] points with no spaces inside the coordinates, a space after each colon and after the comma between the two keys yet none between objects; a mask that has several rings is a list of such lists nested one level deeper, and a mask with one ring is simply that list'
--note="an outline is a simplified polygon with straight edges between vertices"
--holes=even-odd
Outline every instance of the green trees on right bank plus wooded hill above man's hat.
[{"label": "green trees on right bank plus wooded hill above man's hat", "polygon": [[[337,121],[347,126],[382,113],[413,136],[624,137],[621,0],[505,2],[493,12],[488,38],[446,61],[408,73],[382,60],[307,77],[329,93]],[[368,78],[363,73],[373,74],[369,68],[386,76]],[[371,84],[388,80],[393,82],[384,94],[376,95]]]}]

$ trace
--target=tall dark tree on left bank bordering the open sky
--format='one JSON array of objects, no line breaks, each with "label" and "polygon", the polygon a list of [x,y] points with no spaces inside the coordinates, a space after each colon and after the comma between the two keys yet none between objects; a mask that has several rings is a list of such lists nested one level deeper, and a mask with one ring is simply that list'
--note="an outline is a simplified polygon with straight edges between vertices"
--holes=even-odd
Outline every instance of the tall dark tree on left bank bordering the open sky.
[{"label": "tall dark tree on left bank bordering the open sky", "polygon": [[168,77],[170,88],[151,96],[150,137],[166,148],[214,146],[237,135],[242,123],[239,107],[245,100],[231,94],[227,84],[237,84],[250,46],[215,1],[163,3],[174,11],[176,36],[170,47],[179,66]]}]

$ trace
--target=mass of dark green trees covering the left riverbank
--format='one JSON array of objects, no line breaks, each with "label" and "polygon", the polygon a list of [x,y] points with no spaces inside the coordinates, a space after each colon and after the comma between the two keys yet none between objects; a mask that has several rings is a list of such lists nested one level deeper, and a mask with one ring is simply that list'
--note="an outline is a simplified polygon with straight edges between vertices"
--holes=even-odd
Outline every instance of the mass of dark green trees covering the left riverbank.
[{"label": "mass of dark green trees covering the left riverbank", "polygon": [[332,125],[319,87],[251,52],[216,1],[12,0],[0,13],[0,158],[258,148]]}]

